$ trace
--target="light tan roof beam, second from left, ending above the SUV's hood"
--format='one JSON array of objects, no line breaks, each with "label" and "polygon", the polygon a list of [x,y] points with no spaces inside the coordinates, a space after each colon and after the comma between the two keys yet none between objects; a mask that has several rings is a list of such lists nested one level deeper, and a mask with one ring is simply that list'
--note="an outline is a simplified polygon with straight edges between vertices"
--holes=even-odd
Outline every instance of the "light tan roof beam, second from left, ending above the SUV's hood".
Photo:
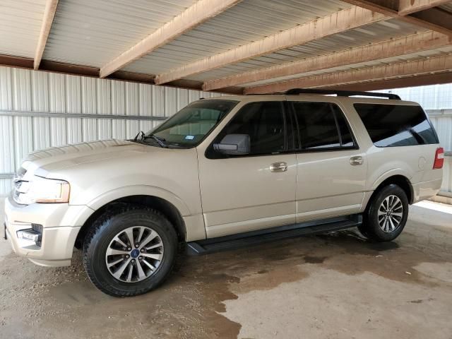
[{"label": "light tan roof beam, second from left, ending above the SUV's hood", "polygon": [[109,61],[100,68],[100,77],[105,78],[132,61],[153,52],[158,47],[174,40],[185,32],[192,30],[204,21],[217,16],[242,0],[199,0],[186,8],[185,11],[174,17],[161,28],[155,30],[133,47]]}]

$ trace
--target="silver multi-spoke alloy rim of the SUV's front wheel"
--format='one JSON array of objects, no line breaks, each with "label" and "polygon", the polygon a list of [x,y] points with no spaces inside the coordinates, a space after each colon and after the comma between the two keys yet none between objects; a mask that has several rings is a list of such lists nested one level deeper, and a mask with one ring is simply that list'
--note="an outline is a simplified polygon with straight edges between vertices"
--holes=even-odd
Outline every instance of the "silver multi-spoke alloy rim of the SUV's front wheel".
[{"label": "silver multi-spoke alloy rim of the SUV's front wheel", "polygon": [[117,280],[137,283],[157,271],[163,251],[160,234],[150,227],[133,226],[113,237],[105,251],[105,263]]}]

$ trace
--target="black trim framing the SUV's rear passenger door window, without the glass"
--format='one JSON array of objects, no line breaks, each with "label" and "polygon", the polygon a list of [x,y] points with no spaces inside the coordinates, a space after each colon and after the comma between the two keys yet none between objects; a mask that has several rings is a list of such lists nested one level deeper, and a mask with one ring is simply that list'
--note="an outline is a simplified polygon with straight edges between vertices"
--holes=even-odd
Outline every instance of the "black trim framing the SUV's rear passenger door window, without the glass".
[{"label": "black trim framing the SUV's rear passenger door window, without the glass", "polygon": [[[340,146],[333,146],[333,147],[327,147],[327,148],[308,148],[308,149],[302,148],[302,137],[301,137],[301,133],[299,132],[299,123],[298,123],[297,113],[295,111],[295,106],[294,106],[295,102],[309,103],[309,104],[326,104],[327,103],[328,105],[330,105],[331,109],[332,109],[333,105],[335,107],[337,107],[338,112],[340,112],[339,114],[342,115],[342,117],[345,121],[345,124],[347,125],[347,128],[350,131],[350,136],[352,136],[353,145],[352,146],[340,145]],[[338,105],[336,102],[290,100],[290,101],[287,101],[287,103],[290,104],[288,106],[290,107],[290,111],[292,113],[292,116],[295,118],[295,123],[296,123],[295,133],[297,133],[297,135],[298,135],[298,148],[295,149],[296,153],[318,153],[318,152],[333,152],[333,151],[338,151],[338,150],[359,150],[359,144],[358,144],[357,138],[355,137],[355,133],[353,132],[352,126],[350,126],[350,122],[347,119],[347,115],[344,113],[344,111],[340,107],[340,105]],[[339,122],[338,122],[338,118],[336,116],[336,111],[335,111],[335,109],[332,109],[331,112],[333,113],[336,131],[338,131],[339,142],[342,144],[342,133],[340,133]]]}]

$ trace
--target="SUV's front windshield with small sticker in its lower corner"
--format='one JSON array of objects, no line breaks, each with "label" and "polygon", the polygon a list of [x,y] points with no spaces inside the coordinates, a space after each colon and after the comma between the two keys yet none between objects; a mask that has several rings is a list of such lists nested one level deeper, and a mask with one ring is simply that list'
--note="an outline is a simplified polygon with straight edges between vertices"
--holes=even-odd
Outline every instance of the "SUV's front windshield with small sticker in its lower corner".
[{"label": "SUV's front windshield with small sticker in its lower corner", "polygon": [[157,137],[168,146],[191,147],[203,138],[228,114],[237,101],[199,100],[174,114],[160,126],[145,134]]}]

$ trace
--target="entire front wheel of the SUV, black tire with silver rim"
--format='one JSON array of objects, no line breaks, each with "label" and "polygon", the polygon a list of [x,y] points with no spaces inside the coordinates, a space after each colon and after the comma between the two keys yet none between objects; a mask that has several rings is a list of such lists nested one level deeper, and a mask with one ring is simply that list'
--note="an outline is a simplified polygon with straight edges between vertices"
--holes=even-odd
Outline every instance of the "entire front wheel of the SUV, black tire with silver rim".
[{"label": "entire front wheel of the SUV, black tire with silver rim", "polygon": [[102,292],[129,297],[160,285],[176,254],[177,234],[162,214],[126,206],[95,222],[83,244],[83,265]]}]

